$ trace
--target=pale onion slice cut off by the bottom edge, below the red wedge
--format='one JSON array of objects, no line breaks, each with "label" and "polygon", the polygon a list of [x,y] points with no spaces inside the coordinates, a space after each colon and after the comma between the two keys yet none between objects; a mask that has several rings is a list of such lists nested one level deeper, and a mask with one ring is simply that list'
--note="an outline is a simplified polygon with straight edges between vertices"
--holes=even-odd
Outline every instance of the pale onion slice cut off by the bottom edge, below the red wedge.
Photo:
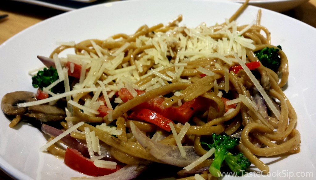
[{"label": "pale onion slice cut off by the bottom edge, below the red wedge", "polygon": [[113,172],[112,174],[100,176],[100,177],[72,177],[71,180],[130,180],[139,176],[144,170],[146,166],[141,165],[125,165],[123,168],[119,169],[119,171]]}]

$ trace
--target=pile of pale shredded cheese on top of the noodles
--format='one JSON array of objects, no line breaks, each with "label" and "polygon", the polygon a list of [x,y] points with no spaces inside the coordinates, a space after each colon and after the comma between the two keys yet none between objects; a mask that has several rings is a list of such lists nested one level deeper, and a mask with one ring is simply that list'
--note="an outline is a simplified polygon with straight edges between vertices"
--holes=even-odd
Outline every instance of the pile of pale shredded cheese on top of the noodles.
[{"label": "pile of pale shredded cheese on top of the noodles", "polygon": [[[253,24],[253,23],[252,23]],[[131,94],[135,97],[137,93],[134,88],[148,91],[160,86],[167,84],[167,82],[191,82],[189,79],[183,79],[181,77],[184,69],[187,66],[187,62],[197,60],[202,57],[216,57],[222,61],[231,65],[235,62],[235,58],[229,58],[228,55],[236,54],[241,60],[246,59],[246,49],[254,49],[255,46],[252,44],[252,40],[246,39],[240,36],[242,32],[248,30],[252,24],[246,26],[240,32],[237,32],[237,25],[235,21],[228,22],[226,20],[226,27],[220,31],[214,31],[214,29],[207,27],[204,23],[196,28],[187,27],[177,27],[166,33],[157,32],[151,38],[147,36],[139,36],[136,38],[136,46],[141,47],[144,45],[152,45],[153,48],[145,49],[145,55],[135,60],[135,65],[129,66],[127,63],[122,64],[124,58],[124,50],[128,48],[130,43],[126,42],[120,48],[116,49],[114,52],[108,52],[106,49],[102,49],[93,40],[91,44],[95,49],[94,53],[83,52],[83,54],[73,55],[68,54],[66,57],[58,57],[58,55],[53,56],[57,71],[58,71],[58,82],[65,81],[67,102],[71,100],[71,96],[75,97],[78,91],[87,92],[87,88],[95,88],[91,90],[94,95],[98,95],[102,92],[105,96],[106,106],[112,109],[109,98],[112,98],[114,94],[122,87],[127,88]],[[232,31],[228,30],[232,28]],[[210,35],[221,34],[224,38],[213,39]],[[114,39],[107,39],[107,41],[116,41]],[[59,44],[64,45],[74,45],[74,42],[59,42]],[[175,54],[174,49],[177,49]],[[169,61],[167,56],[174,58],[174,61]],[[70,90],[69,83],[66,82],[68,79],[67,73],[65,72],[65,67],[63,64],[70,61],[70,71],[74,71],[74,63],[81,65],[81,76],[79,83],[75,84],[73,89]],[[145,70],[143,69],[145,65],[149,65],[151,61],[154,61],[154,68],[149,69],[144,75],[139,75]],[[162,74],[159,71],[165,67],[175,67],[175,72],[167,71],[166,74]],[[216,63],[216,68],[221,68],[221,66]],[[64,69],[64,70],[63,70]],[[87,73],[86,71],[89,70]],[[207,76],[212,76],[214,73],[207,69],[206,67],[198,67],[197,71]],[[106,79],[100,81],[102,74],[106,74]],[[146,84],[137,86],[135,83],[149,75],[155,75],[155,77]],[[228,70],[225,69],[225,91],[228,91]],[[114,83],[113,83],[114,82]],[[56,83],[49,86],[52,88]],[[214,82],[215,87],[218,87],[216,82]],[[97,88],[97,87],[101,87]],[[217,88],[216,88],[217,91]],[[26,107],[37,105],[39,103],[46,103],[50,101],[56,101],[56,99],[61,98],[61,96],[53,96],[45,101],[40,102],[29,102],[19,104],[19,107]],[[89,100],[88,100],[89,101]],[[119,101],[119,100],[117,100]],[[69,102],[72,106],[79,107],[79,104],[74,102]],[[89,103],[80,106],[84,109],[84,113],[88,115],[97,114],[96,110],[101,104],[96,101],[96,99],[91,99]],[[71,107],[68,107],[71,111]]]}]

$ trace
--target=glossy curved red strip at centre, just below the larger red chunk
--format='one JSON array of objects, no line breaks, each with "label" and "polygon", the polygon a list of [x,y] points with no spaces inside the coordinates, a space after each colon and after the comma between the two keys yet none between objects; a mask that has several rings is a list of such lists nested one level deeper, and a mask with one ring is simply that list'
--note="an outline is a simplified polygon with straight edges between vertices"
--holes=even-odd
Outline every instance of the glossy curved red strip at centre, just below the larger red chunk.
[{"label": "glossy curved red strip at centre, just below the larger red chunk", "polygon": [[148,123],[157,125],[163,130],[171,131],[169,123],[172,121],[150,109],[139,109],[137,111],[134,111],[129,115],[129,118],[138,121],[146,121]]}]

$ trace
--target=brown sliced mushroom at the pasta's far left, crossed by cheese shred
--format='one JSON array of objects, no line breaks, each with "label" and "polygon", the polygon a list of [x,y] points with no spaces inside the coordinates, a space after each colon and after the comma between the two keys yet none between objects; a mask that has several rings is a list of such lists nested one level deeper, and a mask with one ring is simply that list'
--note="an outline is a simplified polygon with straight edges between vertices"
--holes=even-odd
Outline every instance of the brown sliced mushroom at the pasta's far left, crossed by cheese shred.
[{"label": "brown sliced mushroom at the pasta's far left, crossed by cheese shred", "polygon": [[59,121],[66,116],[64,108],[57,105],[40,104],[30,107],[17,107],[18,103],[32,101],[36,101],[35,93],[33,92],[11,92],[3,96],[1,109],[7,115],[35,118],[41,122]]}]

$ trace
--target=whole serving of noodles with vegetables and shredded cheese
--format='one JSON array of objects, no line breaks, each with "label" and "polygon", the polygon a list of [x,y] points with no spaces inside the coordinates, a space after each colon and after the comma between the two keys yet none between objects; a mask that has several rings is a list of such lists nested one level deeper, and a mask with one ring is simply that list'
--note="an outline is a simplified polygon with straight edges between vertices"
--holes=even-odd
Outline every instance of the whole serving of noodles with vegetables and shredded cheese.
[{"label": "whole serving of noodles with vegetables and shredded cheese", "polygon": [[298,153],[301,140],[282,90],[287,57],[260,10],[238,25],[246,5],[213,26],[181,26],[179,15],[131,35],[60,43],[38,56],[46,67],[32,73],[36,93],[3,96],[9,126],[46,133],[40,151],[83,173],[73,180],[133,179],[156,164],[187,180],[242,176],[250,165],[268,173],[260,157]]}]

